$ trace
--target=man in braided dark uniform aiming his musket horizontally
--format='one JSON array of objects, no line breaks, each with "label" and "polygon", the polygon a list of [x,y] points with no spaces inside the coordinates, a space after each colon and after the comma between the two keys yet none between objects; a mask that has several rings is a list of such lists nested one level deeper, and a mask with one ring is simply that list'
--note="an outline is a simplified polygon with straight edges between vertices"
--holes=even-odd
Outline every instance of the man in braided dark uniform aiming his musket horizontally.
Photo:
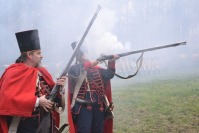
[{"label": "man in braided dark uniform aiming his musket horizontally", "polygon": [[[118,59],[119,56],[114,55],[113,60],[108,62],[107,70],[96,66],[97,60],[89,61],[82,50],[79,51],[76,58],[79,63],[71,66],[69,71],[68,122],[70,133],[112,133],[113,119],[106,119],[105,97],[109,103],[112,102],[110,79],[114,76],[115,59]],[[87,74],[83,77],[83,81],[79,82],[83,71]],[[81,84],[77,89],[79,83]]]}]

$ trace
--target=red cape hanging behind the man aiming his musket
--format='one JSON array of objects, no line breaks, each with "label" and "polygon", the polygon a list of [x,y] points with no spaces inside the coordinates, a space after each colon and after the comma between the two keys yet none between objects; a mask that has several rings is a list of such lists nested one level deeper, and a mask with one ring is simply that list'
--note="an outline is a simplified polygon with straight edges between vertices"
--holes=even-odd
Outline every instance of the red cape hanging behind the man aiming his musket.
[{"label": "red cape hanging behind the man aiming his musket", "polygon": [[[99,68],[99,67],[96,67]],[[112,102],[112,91],[111,91],[111,83],[110,80],[105,82],[106,96],[109,102]],[[70,94],[70,82],[68,82],[68,123],[69,123],[69,132],[76,133],[76,125],[73,123],[72,114],[71,114],[71,94]],[[104,133],[112,133],[113,132],[113,119],[107,119],[104,122]]]}]

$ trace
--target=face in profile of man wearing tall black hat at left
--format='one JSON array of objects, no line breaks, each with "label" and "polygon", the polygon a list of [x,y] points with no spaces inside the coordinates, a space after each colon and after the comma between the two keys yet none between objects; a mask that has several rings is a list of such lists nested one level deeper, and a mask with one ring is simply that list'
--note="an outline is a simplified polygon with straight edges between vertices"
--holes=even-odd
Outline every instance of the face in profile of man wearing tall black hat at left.
[{"label": "face in profile of man wearing tall black hat at left", "polygon": [[41,50],[35,50],[35,51],[30,51],[32,53],[30,53],[30,61],[32,62],[32,64],[37,67],[40,65],[41,60],[43,58],[42,54],[41,54]]}]

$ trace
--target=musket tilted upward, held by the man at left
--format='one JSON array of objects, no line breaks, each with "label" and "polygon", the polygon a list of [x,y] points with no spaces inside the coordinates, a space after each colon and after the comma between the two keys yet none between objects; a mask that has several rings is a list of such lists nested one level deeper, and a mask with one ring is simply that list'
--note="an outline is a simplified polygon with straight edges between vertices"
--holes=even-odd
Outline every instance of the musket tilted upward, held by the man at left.
[{"label": "musket tilted upward, held by the man at left", "polygon": [[[94,16],[92,17],[92,19],[90,21],[88,27],[86,28],[86,31],[84,32],[81,40],[77,44],[77,46],[76,46],[76,48],[75,48],[75,50],[74,50],[74,52],[73,52],[68,64],[66,65],[65,69],[63,70],[63,72],[62,72],[62,74],[60,75],[59,78],[61,78],[62,76],[66,76],[67,73],[69,72],[70,66],[71,66],[76,54],[78,53],[79,48],[83,44],[84,39],[86,38],[86,35],[88,34],[88,32],[89,32],[94,20],[96,19],[97,15],[98,15],[98,13],[100,11],[100,9],[101,9],[101,7],[99,5],[97,10],[96,10],[96,12],[95,12],[95,14],[94,14]],[[55,84],[55,86],[53,87],[52,91],[50,92],[50,94],[46,98],[53,102],[55,97],[56,97],[56,95],[59,93],[60,89],[61,89],[61,86]],[[51,130],[50,129],[50,125],[51,125],[51,114],[50,114],[50,112],[44,112],[44,116],[43,116],[43,118],[42,118],[42,120],[40,122],[39,127],[37,128],[36,133],[50,133],[50,130]]]}]

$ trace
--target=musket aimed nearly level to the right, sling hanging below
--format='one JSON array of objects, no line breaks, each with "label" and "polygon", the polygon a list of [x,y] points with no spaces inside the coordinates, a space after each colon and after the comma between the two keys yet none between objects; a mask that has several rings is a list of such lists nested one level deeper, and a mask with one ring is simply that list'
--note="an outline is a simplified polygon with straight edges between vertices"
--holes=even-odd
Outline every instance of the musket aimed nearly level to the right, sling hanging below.
[{"label": "musket aimed nearly level to the right, sling hanging below", "polygon": [[[174,44],[169,44],[169,45],[164,45],[164,46],[157,46],[157,47],[153,47],[153,48],[130,51],[130,52],[126,52],[126,53],[120,53],[117,55],[119,57],[124,57],[124,56],[128,56],[131,54],[143,53],[143,52],[154,51],[154,50],[169,48],[169,47],[176,47],[176,46],[181,46],[181,45],[186,45],[186,42],[179,42],[179,43],[174,43]],[[110,60],[112,58],[113,58],[113,55],[101,55],[97,60],[101,62],[101,61],[105,61],[105,60]]]}]

